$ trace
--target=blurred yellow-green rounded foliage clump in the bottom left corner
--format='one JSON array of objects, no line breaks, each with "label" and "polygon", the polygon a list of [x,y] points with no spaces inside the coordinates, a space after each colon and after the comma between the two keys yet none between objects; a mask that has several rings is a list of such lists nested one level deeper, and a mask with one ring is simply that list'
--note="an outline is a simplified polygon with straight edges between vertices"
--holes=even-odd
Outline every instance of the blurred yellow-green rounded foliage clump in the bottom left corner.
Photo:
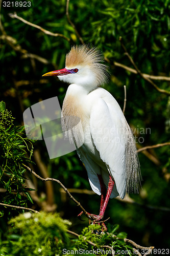
[{"label": "blurred yellow-green rounded foliage clump in the bottom left corner", "polygon": [[52,256],[62,255],[62,249],[69,243],[66,232],[70,222],[57,213],[31,214],[26,212],[11,219],[12,225],[5,242],[0,242],[1,255]]}]

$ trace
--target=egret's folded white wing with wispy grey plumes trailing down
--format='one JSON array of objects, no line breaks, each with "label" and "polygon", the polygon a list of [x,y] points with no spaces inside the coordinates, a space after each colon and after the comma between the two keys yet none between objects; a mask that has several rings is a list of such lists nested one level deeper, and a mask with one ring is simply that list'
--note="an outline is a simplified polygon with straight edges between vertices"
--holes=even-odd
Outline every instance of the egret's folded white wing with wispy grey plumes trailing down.
[{"label": "egret's folded white wing with wispy grey plumes trailing down", "polygon": [[124,198],[126,192],[138,189],[140,171],[134,137],[117,101],[107,91],[92,107],[90,131],[119,196]]}]

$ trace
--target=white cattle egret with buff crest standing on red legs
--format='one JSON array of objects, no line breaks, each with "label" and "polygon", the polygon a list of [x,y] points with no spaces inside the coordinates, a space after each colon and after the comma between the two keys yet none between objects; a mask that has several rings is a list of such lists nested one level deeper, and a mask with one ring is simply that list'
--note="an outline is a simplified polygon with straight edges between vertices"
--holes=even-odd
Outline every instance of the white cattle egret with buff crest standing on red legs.
[{"label": "white cattle egret with buff crest standing on red legs", "polygon": [[[132,131],[117,101],[101,88],[108,81],[103,62],[99,49],[74,46],[64,69],[43,75],[58,76],[70,84],[62,106],[62,127],[76,144],[92,190],[101,195],[100,214],[90,214],[94,222],[103,219],[109,198],[123,199],[126,193],[138,191],[140,182]],[[75,117],[80,125],[74,125]]]}]

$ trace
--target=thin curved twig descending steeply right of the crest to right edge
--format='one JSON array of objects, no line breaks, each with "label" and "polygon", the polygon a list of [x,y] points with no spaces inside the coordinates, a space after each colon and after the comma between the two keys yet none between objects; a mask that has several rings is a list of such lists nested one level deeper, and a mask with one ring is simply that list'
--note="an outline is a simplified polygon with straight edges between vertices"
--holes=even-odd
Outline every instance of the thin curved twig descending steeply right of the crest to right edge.
[{"label": "thin curved twig descending steeply right of the crest to right edge", "polygon": [[132,63],[132,65],[133,65],[133,67],[135,68],[135,70],[137,71],[137,73],[138,73],[144,80],[146,80],[146,81],[148,81],[150,84],[152,84],[152,86],[153,86],[158,92],[164,93],[164,94],[166,94],[166,95],[170,95],[170,92],[169,92],[169,91],[166,91],[166,90],[164,90],[164,89],[160,89],[159,87],[157,87],[157,85],[156,85],[150,78],[143,76],[143,74],[141,73],[141,71],[140,71],[140,70],[138,69],[138,67],[136,66],[134,60],[132,59],[132,57],[131,57],[131,56],[129,55],[129,53],[127,52],[127,49],[126,49],[126,47],[125,47],[124,44],[123,44],[123,39],[122,39],[121,36],[119,37],[119,41],[120,41],[120,44],[122,45],[122,48],[123,48],[124,51],[125,51],[125,54],[128,56],[130,62]]}]

